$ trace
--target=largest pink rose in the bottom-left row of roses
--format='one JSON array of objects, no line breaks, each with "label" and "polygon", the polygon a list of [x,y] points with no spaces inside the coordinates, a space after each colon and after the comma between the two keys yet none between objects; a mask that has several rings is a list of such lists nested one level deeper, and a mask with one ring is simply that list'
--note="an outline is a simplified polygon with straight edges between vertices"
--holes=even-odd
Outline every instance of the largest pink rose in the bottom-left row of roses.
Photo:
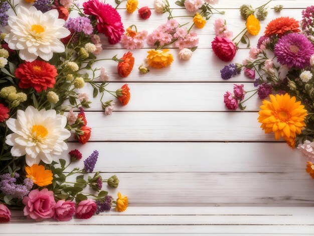
[{"label": "largest pink rose in the bottom-left row of roses", "polygon": [[24,215],[28,218],[40,221],[51,218],[54,215],[54,206],[56,204],[53,191],[47,188],[39,191],[32,190],[28,196],[23,198]]}]

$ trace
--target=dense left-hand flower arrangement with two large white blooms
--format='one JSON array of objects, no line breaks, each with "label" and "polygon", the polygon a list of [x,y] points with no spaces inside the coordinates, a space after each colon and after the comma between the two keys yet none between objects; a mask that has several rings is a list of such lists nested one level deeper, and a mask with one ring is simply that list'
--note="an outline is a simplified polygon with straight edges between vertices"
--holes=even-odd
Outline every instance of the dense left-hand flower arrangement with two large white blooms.
[{"label": "dense left-hand flower arrangement with two large white blooms", "polygon": [[[98,0],[84,3],[83,11],[71,0],[25,1],[33,6],[0,1],[5,26],[0,36],[0,222],[10,220],[9,208],[23,209],[35,220],[61,221],[74,215],[87,219],[112,206],[123,211],[127,197],[118,193],[113,200],[102,190],[104,182],[116,188],[118,178],[89,174],[98,151],[84,160],[83,168],[72,170],[69,165],[80,161],[82,154],[76,149],[66,154],[71,136],[81,144],[91,136],[84,112],[89,97],[77,89],[91,86],[94,97],[100,94],[105,114],[111,114],[114,102],[102,101],[104,93],[122,105],[130,99],[127,84],[107,90],[105,69],[93,68],[96,61],[113,60],[121,77],[131,72],[130,52],[121,58],[96,58],[102,50],[98,34],[111,44],[120,41],[124,33],[120,15]],[[71,11],[79,16],[68,19]],[[87,186],[90,190],[83,190]]]}]

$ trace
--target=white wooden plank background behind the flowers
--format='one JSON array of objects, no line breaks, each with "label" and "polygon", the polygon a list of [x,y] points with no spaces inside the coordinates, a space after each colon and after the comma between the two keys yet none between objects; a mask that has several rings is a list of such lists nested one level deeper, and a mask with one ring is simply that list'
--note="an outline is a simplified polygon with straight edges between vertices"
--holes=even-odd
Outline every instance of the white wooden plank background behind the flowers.
[{"label": "white wooden plank background behind the flowers", "polygon": [[[169,2],[174,16],[189,14],[174,0]],[[84,157],[99,151],[95,171],[118,175],[118,189],[109,191],[128,195],[125,212],[63,223],[32,222],[14,212],[11,223],[0,226],[0,235],[314,235],[314,181],[304,171],[305,158],[263,134],[256,120],[257,97],[246,103],[245,112],[225,108],[222,95],[232,90],[233,83],[243,83],[246,90],[253,84],[243,75],[222,80],[220,70],[226,63],[217,60],[210,48],[215,18],[225,18],[236,35],[245,27],[239,6],[258,7],[265,2],[220,0],[216,7],[226,15],[214,15],[204,29],[196,29],[200,44],[190,61],[180,61],[178,49],[171,49],[175,61],[170,67],[142,75],[137,67],[149,48],[145,45],[133,51],[134,70],[127,78],[117,75],[114,62],[96,64],[108,71],[110,90],[129,84],[131,100],[127,106],[117,102],[113,114],[105,116],[99,97],[92,98],[88,87],[81,89],[93,102],[86,112],[92,137],[83,146],[71,139],[69,148],[79,148]],[[114,0],[106,3],[115,6]],[[301,10],[312,1],[274,0],[270,7],[279,4],[285,9],[270,10],[261,32],[278,16],[300,20]],[[152,8],[152,0],[139,1],[139,7],[145,5]],[[152,10],[150,19],[143,21],[136,13],[127,14],[124,7],[122,3],[118,12],[125,27],[136,24],[150,33],[167,18]],[[251,37],[251,44],[257,40]],[[105,38],[102,43],[100,58],[126,52]],[[247,55],[248,49],[240,45],[234,62]],[[82,166],[79,162],[70,167]]]}]

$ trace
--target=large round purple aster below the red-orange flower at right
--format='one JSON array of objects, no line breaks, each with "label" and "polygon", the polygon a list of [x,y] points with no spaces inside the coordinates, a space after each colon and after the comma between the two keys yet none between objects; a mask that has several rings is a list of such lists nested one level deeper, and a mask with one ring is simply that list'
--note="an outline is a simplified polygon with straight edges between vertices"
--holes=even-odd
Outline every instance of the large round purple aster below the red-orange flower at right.
[{"label": "large round purple aster below the red-orange flower at right", "polygon": [[305,35],[298,33],[282,36],[274,48],[274,55],[278,62],[287,65],[288,68],[304,69],[309,66],[312,54],[314,54],[314,46]]}]

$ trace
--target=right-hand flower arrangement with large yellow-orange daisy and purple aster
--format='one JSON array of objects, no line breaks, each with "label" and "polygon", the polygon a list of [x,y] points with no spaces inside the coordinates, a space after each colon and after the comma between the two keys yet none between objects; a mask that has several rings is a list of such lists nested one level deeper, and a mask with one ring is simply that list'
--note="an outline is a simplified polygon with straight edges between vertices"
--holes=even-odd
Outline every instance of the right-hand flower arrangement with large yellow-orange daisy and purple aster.
[{"label": "right-hand flower arrangement with large yellow-orange daisy and purple aster", "polygon": [[[243,103],[257,93],[263,100],[258,121],[265,133],[282,138],[310,159],[314,158],[313,32],[314,6],[302,11],[300,22],[290,17],[274,19],[242,64],[221,70],[222,78],[229,79],[244,69],[256,87],[245,91],[243,84],[235,84],[233,93],[224,94],[227,108],[245,109]],[[253,94],[244,100],[249,92]],[[307,172],[314,178],[313,170],[308,162]]]}]

